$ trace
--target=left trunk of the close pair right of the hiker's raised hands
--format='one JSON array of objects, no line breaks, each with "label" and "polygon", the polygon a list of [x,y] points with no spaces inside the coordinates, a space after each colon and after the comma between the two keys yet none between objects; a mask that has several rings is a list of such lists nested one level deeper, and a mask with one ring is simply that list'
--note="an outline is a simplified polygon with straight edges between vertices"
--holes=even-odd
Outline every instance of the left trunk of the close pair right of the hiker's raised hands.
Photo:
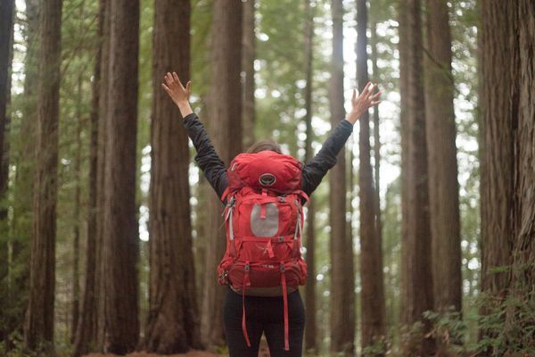
[{"label": "left trunk of the close pair right of the hiker's raised hands", "polygon": [[[407,87],[401,96],[403,112],[401,120],[406,120],[407,150],[401,170],[402,180],[406,179],[407,206],[402,209],[406,214],[407,226],[402,239],[402,283],[404,311],[401,321],[412,327],[420,321],[424,331],[431,328],[422,313],[432,310],[432,266],[431,266],[431,227],[429,222],[429,195],[427,179],[427,145],[425,141],[424,79],[422,76],[422,21],[419,0],[409,0],[400,4],[399,21],[407,21],[404,30],[399,30],[400,68],[406,71]],[[404,12],[404,13],[403,13]],[[400,77],[403,74],[400,75]],[[403,79],[401,79],[403,80]],[[404,107],[404,105],[407,105]],[[403,140],[403,139],[402,139]],[[403,142],[402,142],[403,146]],[[403,187],[402,187],[403,190]],[[402,193],[403,196],[403,193]],[[430,355],[434,351],[432,338],[424,334],[421,344],[414,346],[416,351]]]}]

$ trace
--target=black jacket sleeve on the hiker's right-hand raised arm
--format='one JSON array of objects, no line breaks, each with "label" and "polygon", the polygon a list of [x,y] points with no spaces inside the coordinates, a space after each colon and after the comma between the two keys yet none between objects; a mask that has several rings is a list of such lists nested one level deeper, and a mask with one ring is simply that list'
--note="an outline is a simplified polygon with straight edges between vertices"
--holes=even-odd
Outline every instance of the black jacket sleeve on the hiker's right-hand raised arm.
[{"label": "black jacket sleeve on the hiker's right-hand raised arm", "polygon": [[311,195],[316,190],[327,171],[334,166],[336,156],[340,153],[352,132],[353,124],[348,120],[342,120],[331,131],[316,156],[305,164],[302,170],[301,187],[307,195]]}]

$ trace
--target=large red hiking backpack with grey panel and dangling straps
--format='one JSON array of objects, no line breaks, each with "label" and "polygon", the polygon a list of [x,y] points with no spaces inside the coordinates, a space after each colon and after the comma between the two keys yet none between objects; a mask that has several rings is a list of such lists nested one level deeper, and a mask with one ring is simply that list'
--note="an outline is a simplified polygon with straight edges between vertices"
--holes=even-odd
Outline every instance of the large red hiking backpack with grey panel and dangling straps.
[{"label": "large red hiking backpack with grey panel and dangling straps", "polygon": [[304,285],[307,264],[300,255],[303,214],[300,189],[302,165],[290,155],[273,151],[238,154],[227,172],[225,212],[226,253],[218,265],[218,281],[243,297],[283,296],[284,349],[288,342],[288,292]]}]

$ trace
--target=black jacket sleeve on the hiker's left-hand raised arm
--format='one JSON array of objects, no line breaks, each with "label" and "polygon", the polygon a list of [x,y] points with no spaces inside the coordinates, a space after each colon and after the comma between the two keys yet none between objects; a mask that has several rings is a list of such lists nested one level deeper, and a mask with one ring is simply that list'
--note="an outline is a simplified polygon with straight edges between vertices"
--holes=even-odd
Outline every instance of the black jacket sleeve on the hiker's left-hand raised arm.
[{"label": "black jacket sleeve on the hiker's left-hand raised arm", "polygon": [[186,115],[184,118],[184,127],[187,136],[192,139],[193,146],[197,151],[195,162],[197,162],[204,176],[210,182],[211,187],[213,187],[219,199],[221,199],[223,192],[228,186],[225,164],[212,145],[210,137],[208,137],[208,132],[204,129],[197,114],[191,113]]}]

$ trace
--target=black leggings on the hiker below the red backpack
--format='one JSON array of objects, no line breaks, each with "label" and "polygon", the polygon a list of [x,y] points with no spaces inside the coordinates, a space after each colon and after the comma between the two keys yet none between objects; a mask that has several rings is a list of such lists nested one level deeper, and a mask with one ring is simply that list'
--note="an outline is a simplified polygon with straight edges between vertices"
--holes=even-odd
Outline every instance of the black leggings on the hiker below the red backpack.
[{"label": "black leggings on the hiker below the red backpack", "polygon": [[229,357],[257,357],[262,333],[271,357],[300,357],[305,328],[305,308],[299,290],[288,295],[290,351],[284,351],[283,297],[245,296],[245,318],[251,347],[242,330],[242,295],[226,290],[223,320]]}]

